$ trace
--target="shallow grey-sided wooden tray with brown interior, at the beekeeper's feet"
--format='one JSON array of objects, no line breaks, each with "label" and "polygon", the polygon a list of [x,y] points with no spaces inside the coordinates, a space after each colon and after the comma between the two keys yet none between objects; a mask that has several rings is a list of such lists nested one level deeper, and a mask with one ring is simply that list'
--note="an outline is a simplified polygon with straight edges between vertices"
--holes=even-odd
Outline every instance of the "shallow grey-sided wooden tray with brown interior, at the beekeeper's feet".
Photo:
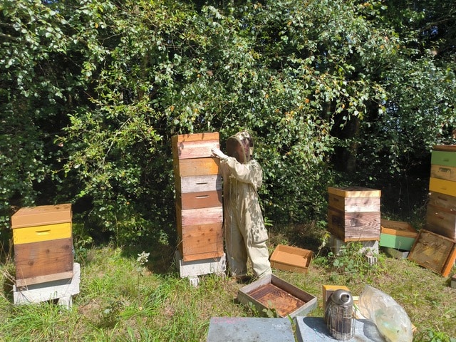
[{"label": "shallow grey-sided wooden tray with brown interior, at the beekeeper's feet", "polygon": [[280,317],[306,316],[316,308],[316,296],[298,289],[274,274],[263,276],[237,293],[242,304],[252,304],[259,313],[275,311]]}]

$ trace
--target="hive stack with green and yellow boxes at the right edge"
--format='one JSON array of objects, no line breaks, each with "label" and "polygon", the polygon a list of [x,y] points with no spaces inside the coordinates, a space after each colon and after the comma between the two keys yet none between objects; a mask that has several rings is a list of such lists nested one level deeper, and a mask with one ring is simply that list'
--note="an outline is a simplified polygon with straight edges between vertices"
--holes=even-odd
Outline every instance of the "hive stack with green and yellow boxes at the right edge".
[{"label": "hive stack with green and yellow boxes at the right edge", "polygon": [[431,154],[426,229],[456,239],[456,145],[437,145]]}]

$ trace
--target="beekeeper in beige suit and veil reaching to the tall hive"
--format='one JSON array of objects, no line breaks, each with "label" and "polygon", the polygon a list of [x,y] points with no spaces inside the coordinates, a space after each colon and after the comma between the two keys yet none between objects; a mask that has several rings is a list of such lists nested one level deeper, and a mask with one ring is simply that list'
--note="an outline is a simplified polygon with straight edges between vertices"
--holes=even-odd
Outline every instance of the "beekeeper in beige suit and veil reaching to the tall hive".
[{"label": "beekeeper in beige suit and veil reaching to the tall hive", "polygon": [[271,274],[268,234],[258,201],[257,190],[263,171],[251,158],[254,142],[247,131],[227,140],[227,155],[217,147],[212,155],[220,158],[224,182],[224,233],[228,269],[231,276],[247,278],[247,260],[252,262],[254,276]]}]

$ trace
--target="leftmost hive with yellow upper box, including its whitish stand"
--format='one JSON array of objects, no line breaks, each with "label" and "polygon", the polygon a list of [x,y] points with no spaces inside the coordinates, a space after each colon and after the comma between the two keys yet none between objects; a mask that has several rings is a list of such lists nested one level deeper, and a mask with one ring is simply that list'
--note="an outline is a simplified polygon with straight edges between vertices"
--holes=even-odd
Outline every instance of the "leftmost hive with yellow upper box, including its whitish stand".
[{"label": "leftmost hive with yellow upper box, including its whitish stand", "polygon": [[14,304],[58,300],[69,309],[79,293],[71,204],[24,207],[11,216],[16,284]]}]

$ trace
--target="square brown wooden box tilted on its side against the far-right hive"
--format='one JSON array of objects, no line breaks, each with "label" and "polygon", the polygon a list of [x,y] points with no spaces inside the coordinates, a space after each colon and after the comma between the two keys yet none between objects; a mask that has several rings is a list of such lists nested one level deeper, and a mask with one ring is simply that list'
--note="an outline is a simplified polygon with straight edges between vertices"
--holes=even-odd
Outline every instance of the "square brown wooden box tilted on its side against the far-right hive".
[{"label": "square brown wooden box tilted on its side against the far-right hive", "polygon": [[455,244],[453,239],[421,229],[408,259],[442,276],[448,276],[456,260]]}]

